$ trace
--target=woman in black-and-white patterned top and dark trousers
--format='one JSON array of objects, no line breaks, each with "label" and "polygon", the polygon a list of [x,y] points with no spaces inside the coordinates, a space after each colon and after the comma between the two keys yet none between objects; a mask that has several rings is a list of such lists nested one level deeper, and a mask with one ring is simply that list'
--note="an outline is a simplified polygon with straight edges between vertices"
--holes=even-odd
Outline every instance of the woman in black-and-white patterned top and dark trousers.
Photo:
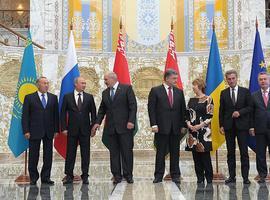
[{"label": "woman in black-and-white patterned top and dark trousers", "polygon": [[213,116],[213,101],[205,95],[205,82],[197,78],[192,82],[195,97],[188,102],[188,119],[186,120],[189,136],[186,150],[192,151],[197,183],[212,183],[213,167],[210,151],[212,138],[210,122]]}]

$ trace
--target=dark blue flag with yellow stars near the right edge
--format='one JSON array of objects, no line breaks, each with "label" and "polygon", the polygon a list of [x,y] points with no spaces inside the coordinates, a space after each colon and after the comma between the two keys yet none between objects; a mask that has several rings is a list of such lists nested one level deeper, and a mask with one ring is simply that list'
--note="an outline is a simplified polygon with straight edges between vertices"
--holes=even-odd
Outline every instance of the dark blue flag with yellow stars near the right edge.
[{"label": "dark blue flag with yellow stars near the right edge", "polygon": [[[266,65],[264,62],[263,50],[261,45],[260,33],[258,31],[258,25],[256,23],[256,35],[253,49],[252,67],[249,80],[249,91],[253,93],[260,89],[258,83],[258,75],[260,72],[266,72]],[[248,136],[248,146],[255,151],[256,139],[255,136]]]}]

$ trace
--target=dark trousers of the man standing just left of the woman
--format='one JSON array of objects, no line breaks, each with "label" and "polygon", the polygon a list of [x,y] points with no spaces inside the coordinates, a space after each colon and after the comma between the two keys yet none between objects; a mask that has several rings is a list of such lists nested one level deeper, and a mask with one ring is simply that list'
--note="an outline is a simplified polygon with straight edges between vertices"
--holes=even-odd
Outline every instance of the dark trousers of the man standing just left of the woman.
[{"label": "dark trousers of the man standing just left of the woman", "polygon": [[[165,156],[170,153],[170,174],[172,179],[180,178],[179,151],[180,135],[155,133],[156,163],[155,178],[162,179],[165,172]],[[169,150],[169,152],[168,152]]]}]

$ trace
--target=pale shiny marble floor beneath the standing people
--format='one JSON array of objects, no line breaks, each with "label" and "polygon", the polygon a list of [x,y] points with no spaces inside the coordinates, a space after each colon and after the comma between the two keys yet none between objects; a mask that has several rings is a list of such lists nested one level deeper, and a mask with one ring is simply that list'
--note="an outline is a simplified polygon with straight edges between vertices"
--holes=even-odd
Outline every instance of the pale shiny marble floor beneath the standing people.
[{"label": "pale shiny marble floor beneath the standing people", "polygon": [[[213,161],[214,164],[214,161]],[[80,161],[76,162],[75,173],[80,172]],[[256,176],[255,163],[251,162],[250,186],[242,184],[240,177],[240,163],[237,161],[237,183],[225,185],[213,183],[197,185],[191,158],[183,158],[180,162],[182,181],[176,185],[171,181],[153,184],[154,157],[139,157],[134,160],[134,184],[123,181],[113,185],[109,162],[106,159],[92,159],[90,164],[90,184],[63,186],[64,161],[57,159],[53,163],[52,179],[54,186],[40,184],[37,186],[17,185],[15,178],[23,172],[23,161],[7,161],[0,163],[0,199],[124,199],[124,200],[151,200],[151,199],[270,199],[270,184],[258,184],[253,178]],[[167,168],[169,164],[166,163]],[[40,167],[40,166],[39,166]],[[220,171],[227,175],[226,162],[219,162]]]}]

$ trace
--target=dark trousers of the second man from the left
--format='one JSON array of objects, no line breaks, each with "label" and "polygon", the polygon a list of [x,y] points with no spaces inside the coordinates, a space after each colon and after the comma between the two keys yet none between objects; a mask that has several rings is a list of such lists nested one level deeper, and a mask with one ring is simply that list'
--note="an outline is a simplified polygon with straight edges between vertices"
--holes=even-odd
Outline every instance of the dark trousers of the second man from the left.
[{"label": "dark trousers of the second man from the left", "polygon": [[67,137],[67,154],[65,161],[65,174],[68,178],[73,179],[73,170],[76,160],[77,154],[77,146],[78,143],[80,145],[81,151],[81,170],[82,170],[82,178],[87,178],[89,171],[89,163],[90,163],[90,135],[82,134],[79,132],[76,136]]}]

